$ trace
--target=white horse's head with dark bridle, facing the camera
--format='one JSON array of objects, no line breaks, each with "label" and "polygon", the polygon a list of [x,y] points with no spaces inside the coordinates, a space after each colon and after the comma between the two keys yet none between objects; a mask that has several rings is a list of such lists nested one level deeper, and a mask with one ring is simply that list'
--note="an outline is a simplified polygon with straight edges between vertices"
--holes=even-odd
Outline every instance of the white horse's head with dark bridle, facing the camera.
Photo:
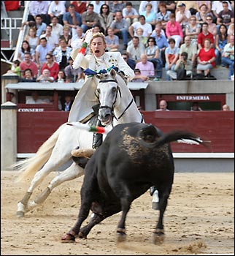
[{"label": "white horse's head with dark bridle, facing the camera", "polygon": [[99,78],[96,92],[100,102],[99,118],[102,125],[111,124],[114,116],[113,110],[120,91],[116,75],[115,69],[111,69],[109,73],[96,75],[96,78]]}]

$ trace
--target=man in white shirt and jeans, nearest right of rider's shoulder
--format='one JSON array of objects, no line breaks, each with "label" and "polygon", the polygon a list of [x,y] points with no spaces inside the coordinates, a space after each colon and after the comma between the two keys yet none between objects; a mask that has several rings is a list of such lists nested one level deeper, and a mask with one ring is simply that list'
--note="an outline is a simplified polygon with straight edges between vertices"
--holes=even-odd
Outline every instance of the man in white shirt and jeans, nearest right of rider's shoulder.
[{"label": "man in white shirt and jeans, nearest right of rider's shoulder", "polygon": [[139,37],[133,37],[132,42],[128,45],[126,54],[128,55],[127,63],[134,70],[136,63],[140,61],[140,56],[145,53],[145,45],[139,42]]}]

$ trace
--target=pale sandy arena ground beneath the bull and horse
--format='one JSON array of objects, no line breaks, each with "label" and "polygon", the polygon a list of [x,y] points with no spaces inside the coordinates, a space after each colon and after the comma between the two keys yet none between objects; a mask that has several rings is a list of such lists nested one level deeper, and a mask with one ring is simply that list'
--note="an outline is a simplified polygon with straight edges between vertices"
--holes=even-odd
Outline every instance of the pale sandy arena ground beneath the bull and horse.
[{"label": "pale sandy arena ground beneath the bull and horse", "polygon": [[17,203],[28,184],[15,183],[16,173],[1,171],[1,255],[234,255],[234,173],[176,173],[161,246],[152,243],[158,211],[149,192],[132,204],[124,244],[116,244],[120,214],[96,225],[87,240],[62,244],[78,214],[83,177],[61,184],[42,206],[18,219]]}]

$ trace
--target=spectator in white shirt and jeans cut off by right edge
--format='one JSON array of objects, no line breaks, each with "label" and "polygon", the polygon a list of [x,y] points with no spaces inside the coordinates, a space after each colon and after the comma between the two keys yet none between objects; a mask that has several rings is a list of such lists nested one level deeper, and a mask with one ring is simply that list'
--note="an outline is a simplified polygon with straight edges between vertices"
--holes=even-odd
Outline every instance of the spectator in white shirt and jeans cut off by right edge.
[{"label": "spectator in white shirt and jeans cut off by right edge", "polygon": [[234,36],[230,37],[230,42],[223,49],[221,65],[229,67],[228,79],[234,75]]}]

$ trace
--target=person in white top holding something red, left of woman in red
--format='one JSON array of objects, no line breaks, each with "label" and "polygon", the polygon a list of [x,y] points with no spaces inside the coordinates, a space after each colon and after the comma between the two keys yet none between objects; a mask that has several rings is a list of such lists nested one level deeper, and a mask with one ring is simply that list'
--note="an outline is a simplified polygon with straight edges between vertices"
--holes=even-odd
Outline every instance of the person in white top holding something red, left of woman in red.
[{"label": "person in white top holding something red, left of woman in red", "polygon": [[174,70],[175,64],[179,59],[180,48],[178,48],[175,44],[174,38],[169,39],[169,47],[165,50],[166,56],[166,80],[171,80],[169,75],[167,75],[168,70]]}]

